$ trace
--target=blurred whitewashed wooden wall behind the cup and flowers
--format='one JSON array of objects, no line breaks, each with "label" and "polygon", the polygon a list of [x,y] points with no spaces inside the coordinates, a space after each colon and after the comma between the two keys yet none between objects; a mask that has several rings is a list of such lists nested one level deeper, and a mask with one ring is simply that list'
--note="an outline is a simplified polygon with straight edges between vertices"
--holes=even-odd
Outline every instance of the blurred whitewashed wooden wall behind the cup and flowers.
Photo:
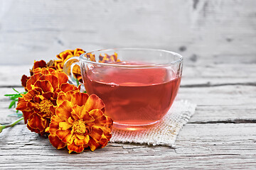
[{"label": "blurred whitewashed wooden wall behind the cup and flowers", "polygon": [[0,0],[0,64],[66,49],[153,47],[187,62],[255,61],[255,0]]}]

